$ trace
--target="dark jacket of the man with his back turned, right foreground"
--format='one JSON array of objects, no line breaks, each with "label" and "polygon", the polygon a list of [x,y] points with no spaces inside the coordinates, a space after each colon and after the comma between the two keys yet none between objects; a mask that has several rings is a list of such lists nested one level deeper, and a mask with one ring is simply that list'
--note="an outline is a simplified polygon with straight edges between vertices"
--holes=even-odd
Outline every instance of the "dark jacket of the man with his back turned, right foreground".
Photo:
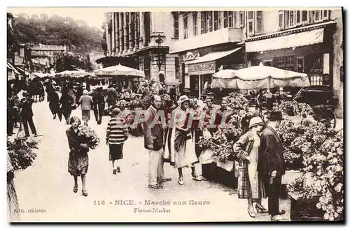
[{"label": "dark jacket of the man with his back turned, right foreground", "polygon": [[280,175],[283,175],[286,172],[286,164],[279,134],[272,127],[267,126],[262,131],[260,140],[258,171],[267,175],[276,170]]}]

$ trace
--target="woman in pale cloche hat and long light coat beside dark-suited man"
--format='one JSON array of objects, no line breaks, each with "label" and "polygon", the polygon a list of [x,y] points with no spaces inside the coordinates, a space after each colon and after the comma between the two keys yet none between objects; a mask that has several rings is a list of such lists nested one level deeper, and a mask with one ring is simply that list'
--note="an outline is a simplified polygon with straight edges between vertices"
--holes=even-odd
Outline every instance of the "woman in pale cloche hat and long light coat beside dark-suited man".
[{"label": "woman in pale cloche hat and long light coat beside dark-suited man", "polygon": [[239,138],[233,145],[233,151],[239,158],[238,198],[248,199],[248,214],[255,218],[256,212],[267,212],[261,205],[261,198],[265,198],[262,177],[258,172],[258,152],[260,147],[260,133],[264,122],[260,117],[253,117],[249,121],[249,131]]}]

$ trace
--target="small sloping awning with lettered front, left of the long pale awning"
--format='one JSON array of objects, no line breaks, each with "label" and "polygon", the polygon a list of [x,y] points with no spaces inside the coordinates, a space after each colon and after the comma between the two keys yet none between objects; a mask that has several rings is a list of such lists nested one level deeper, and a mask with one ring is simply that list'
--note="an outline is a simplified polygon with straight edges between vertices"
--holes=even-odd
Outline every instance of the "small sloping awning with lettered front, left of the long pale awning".
[{"label": "small sloping awning with lettered front, left of the long pale awning", "polygon": [[241,47],[235,48],[235,50],[228,50],[223,52],[211,52],[203,57],[196,59],[195,61],[189,61],[188,63],[188,74],[189,75],[203,75],[215,73],[215,61],[226,57],[234,52],[240,50]]}]

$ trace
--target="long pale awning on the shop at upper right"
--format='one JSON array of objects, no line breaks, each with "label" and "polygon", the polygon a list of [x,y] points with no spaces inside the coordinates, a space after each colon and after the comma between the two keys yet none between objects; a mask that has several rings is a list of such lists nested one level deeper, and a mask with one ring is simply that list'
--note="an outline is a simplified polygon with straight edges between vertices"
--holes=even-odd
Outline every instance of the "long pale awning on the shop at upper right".
[{"label": "long pale awning on the shop at upper right", "polygon": [[299,34],[279,36],[265,40],[256,40],[246,42],[246,52],[262,52],[267,50],[279,50],[289,47],[300,47],[305,45],[314,45],[323,42],[322,29],[305,31]]}]

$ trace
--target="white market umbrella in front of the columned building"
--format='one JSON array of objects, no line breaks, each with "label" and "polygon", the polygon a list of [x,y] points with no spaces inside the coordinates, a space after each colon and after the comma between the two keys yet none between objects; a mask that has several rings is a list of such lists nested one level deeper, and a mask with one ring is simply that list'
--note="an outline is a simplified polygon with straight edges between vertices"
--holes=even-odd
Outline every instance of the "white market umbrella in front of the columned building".
[{"label": "white market umbrella in front of the columned building", "polygon": [[116,66],[111,66],[107,68],[97,69],[94,71],[95,75],[130,75],[135,77],[145,77],[144,71],[129,68],[118,64]]}]

